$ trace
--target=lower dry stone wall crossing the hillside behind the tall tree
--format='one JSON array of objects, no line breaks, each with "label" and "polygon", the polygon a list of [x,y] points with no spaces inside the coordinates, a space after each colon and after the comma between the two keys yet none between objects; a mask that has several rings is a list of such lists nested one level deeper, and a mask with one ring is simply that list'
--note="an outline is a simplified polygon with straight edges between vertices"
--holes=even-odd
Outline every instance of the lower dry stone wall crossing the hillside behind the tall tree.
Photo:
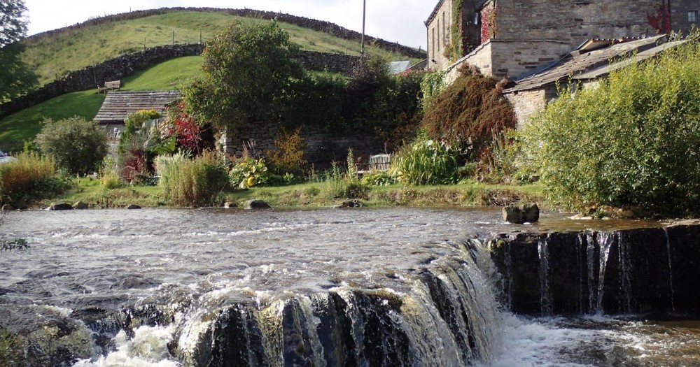
[{"label": "lower dry stone wall crossing the hillside behind the tall tree", "polygon": [[[50,82],[36,92],[1,104],[0,118],[62,94],[93,88],[97,89],[98,86],[104,85],[106,81],[121,80],[137,71],[169,59],[200,55],[202,50],[204,50],[204,45],[202,44],[158,46],[129,55],[121,55],[102,64],[88,66],[82,70],[71,71],[64,78]],[[328,70],[346,74],[351,73],[353,66],[359,61],[359,57],[356,56],[313,51],[300,51],[298,59],[302,66],[309,70]]]}]

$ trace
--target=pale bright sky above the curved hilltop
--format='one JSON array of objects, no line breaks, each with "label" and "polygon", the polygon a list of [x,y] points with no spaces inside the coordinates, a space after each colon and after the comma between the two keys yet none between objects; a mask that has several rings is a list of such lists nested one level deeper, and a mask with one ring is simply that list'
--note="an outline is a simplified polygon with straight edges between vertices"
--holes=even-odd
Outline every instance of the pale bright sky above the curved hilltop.
[{"label": "pale bright sky above the curved hilltop", "polygon": [[[365,34],[426,49],[423,24],[437,0],[367,0]],[[29,35],[84,22],[90,17],[153,8],[212,7],[268,10],[362,31],[363,0],[25,0]]]}]

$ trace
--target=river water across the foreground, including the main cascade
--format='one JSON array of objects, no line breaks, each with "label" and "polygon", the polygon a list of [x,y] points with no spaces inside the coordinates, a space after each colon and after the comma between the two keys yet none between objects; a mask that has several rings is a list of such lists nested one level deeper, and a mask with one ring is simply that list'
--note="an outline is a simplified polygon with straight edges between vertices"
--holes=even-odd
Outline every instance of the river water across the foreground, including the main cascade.
[{"label": "river water across the foreground, including the main cascade", "polygon": [[[700,366],[698,322],[512,315],[479,242],[457,240],[651,225],[516,227],[490,209],[16,212],[0,238],[31,247],[0,253],[0,326],[25,338],[10,366]],[[426,279],[470,286],[437,295],[467,324],[429,302]],[[236,322],[246,338],[231,341]]]}]

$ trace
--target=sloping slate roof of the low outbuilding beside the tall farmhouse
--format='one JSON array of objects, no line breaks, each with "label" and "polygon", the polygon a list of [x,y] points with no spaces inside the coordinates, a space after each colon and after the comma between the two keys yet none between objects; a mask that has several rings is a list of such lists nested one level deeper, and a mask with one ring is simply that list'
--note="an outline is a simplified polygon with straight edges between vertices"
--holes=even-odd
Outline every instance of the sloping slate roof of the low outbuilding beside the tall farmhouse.
[{"label": "sloping slate roof of the low outbuilding beside the tall farmhouse", "polygon": [[[608,42],[608,47],[590,50],[589,45],[591,45],[591,43],[597,43],[599,45],[604,41]],[[611,66],[610,59],[631,55],[632,52],[637,52],[637,60],[648,59],[685,41],[665,42],[665,35],[641,39],[621,38],[618,40],[592,40],[592,42],[584,43],[578,50],[571,52],[566,55],[566,57],[554,62],[554,64],[545,66],[545,68],[540,69],[533,75],[516,80],[516,85],[510,89],[506,89],[504,93],[540,89],[560,80],[568,80],[568,78],[573,78],[575,80],[600,78],[601,76],[608,75],[611,70],[618,69],[624,66],[625,63],[629,64],[630,62],[626,60],[617,62]],[[611,43],[615,44],[610,45]]]}]

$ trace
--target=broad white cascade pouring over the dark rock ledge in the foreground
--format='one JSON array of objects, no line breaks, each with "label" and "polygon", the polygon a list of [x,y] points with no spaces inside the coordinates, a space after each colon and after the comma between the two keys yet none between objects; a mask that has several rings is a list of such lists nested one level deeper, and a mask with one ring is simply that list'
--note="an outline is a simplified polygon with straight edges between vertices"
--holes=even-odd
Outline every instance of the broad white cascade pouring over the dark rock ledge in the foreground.
[{"label": "broad white cascade pouring over the dark rock ledge in the foreground", "polygon": [[[442,246],[454,255],[402,274],[406,287],[400,289],[342,285],[312,294],[267,294],[236,287],[204,292],[179,312],[171,307],[172,323],[163,326],[174,330],[172,338],[160,338],[160,345],[150,348],[170,351],[172,361],[163,361],[163,366],[489,363],[501,338],[496,267],[479,240],[447,241]],[[251,296],[254,301],[246,301]],[[143,317],[141,322],[168,319],[162,310],[153,312],[158,317]],[[109,366],[104,361],[118,360],[117,353],[127,352],[122,348],[95,364],[80,361],[75,366]]]}]

